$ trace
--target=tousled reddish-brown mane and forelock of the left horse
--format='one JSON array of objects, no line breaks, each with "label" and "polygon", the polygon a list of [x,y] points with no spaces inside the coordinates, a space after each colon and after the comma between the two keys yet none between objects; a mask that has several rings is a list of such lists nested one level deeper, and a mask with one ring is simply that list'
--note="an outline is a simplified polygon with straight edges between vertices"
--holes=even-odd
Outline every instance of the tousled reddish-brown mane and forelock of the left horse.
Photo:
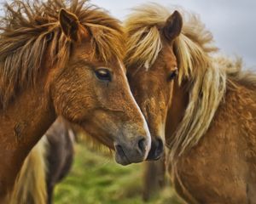
[{"label": "tousled reddish-brown mane and forelock of the left horse", "polygon": [[123,56],[123,31],[119,20],[87,0],[13,0],[5,3],[0,19],[0,105],[3,108],[23,88],[34,85],[44,66],[66,64],[72,44],[61,31],[61,8],[76,14],[89,30],[93,54],[109,61]]}]

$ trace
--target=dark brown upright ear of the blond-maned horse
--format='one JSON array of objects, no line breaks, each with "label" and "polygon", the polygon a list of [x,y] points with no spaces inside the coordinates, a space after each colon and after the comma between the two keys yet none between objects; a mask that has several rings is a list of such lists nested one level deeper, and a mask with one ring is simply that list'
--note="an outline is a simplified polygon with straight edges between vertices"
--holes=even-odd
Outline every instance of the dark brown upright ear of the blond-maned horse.
[{"label": "dark brown upright ear of the blond-maned horse", "polygon": [[183,18],[181,14],[174,11],[173,14],[166,20],[164,26],[164,35],[169,41],[173,41],[182,31]]}]

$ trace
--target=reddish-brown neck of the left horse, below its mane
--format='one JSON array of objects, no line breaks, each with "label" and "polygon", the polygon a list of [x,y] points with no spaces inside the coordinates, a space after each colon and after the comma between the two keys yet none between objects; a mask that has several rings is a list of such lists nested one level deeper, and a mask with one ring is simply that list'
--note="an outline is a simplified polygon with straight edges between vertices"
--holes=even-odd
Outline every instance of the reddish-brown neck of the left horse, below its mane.
[{"label": "reddish-brown neck of the left horse, below its mane", "polygon": [[55,111],[44,83],[26,88],[0,112],[0,202],[13,188],[28,152],[55,120]]}]

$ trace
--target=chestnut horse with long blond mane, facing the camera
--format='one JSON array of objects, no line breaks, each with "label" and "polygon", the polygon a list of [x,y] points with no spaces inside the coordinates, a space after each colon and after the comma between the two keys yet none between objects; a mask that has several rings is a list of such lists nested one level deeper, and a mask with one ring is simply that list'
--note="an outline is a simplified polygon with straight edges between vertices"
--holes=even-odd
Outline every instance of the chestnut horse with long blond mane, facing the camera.
[{"label": "chestnut horse with long blond mane, facing the camera", "polygon": [[255,203],[256,75],[218,54],[196,14],[158,4],[125,20],[127,77],[188,203]]}]

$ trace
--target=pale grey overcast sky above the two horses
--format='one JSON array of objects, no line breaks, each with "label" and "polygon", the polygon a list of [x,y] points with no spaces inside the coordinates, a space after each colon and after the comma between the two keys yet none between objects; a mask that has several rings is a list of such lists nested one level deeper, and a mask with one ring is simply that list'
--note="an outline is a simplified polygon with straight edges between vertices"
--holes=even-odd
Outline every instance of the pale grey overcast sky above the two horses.
[{"label": "pale grey overcast sky above the two horses", "polygon": [[200,14],[224,54],[241,56],[247,67],[256,65],[256,0],[91,0],[113,16],[125,19],[130,8],[141,3],[179,5]]}]

